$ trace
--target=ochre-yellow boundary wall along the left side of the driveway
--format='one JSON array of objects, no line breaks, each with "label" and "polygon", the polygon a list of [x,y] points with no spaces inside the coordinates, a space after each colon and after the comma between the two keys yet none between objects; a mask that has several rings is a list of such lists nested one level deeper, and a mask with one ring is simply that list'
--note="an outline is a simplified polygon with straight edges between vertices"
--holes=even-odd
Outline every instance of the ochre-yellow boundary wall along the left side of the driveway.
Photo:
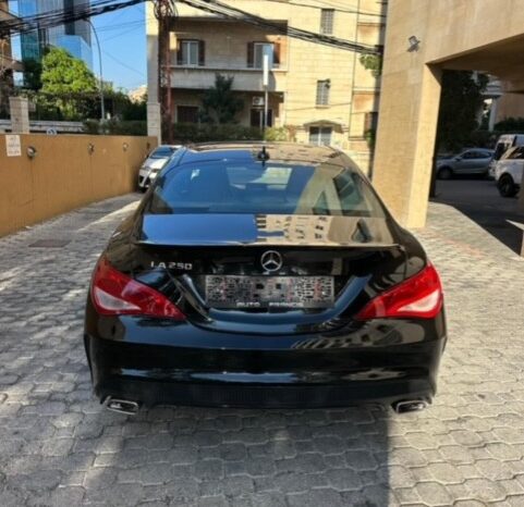
[{"label": "ochre-yellow boundary wall along the left side of the driveway", "polygon": [[[0,135],[0,236],[80,206],[132,191],[156,138],[21,135],[22,154],[8,157]],[[89,152],[89,145],[93,152]],[[27,147],[37,150],[29,159]]]}]

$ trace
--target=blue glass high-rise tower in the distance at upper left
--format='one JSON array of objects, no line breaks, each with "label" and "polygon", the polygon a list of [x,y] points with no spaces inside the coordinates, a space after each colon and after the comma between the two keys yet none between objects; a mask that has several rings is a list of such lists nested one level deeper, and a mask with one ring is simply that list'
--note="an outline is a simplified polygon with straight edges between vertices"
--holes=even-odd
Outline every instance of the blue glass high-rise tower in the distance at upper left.
[{"label": "blue glass high-rise tower in the distance at upper left", "polygon": [[[75,7],[85,5],[85,3],[86,0],[19,0],[19,13],[24,17],[49,11],[72,11]],[[68,50],[93,69],[90,25],[87,21],[78,20],[21,35],[21,51],[24,60],[40,60],[48,46]]]}]

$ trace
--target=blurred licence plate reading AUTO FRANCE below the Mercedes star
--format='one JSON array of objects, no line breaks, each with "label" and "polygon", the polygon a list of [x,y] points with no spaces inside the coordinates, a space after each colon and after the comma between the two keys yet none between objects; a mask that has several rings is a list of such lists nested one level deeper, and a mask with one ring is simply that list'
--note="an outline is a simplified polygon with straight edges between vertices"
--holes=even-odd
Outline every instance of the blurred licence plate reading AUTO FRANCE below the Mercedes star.
[{"label": "blurred licence plate reading AUTO FRANCE below the Mercedes star", "polygon": [[214,308],[329,308],[332,276],[206,276]]}]

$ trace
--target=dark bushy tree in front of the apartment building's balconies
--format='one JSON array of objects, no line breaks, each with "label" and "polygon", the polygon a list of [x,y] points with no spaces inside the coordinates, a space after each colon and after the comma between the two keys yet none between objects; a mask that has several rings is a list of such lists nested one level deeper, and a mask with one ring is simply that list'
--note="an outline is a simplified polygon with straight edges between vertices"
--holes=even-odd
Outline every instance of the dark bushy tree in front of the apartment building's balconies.
[{"label": "dark bushy tree in front of the apartment building's balconies", "polygon": [[244,101],[233,91],[232,76],[216,74],[215,86],[202,98],[200,119],[206,123],[236,123],[235,116],[244,108]]}]

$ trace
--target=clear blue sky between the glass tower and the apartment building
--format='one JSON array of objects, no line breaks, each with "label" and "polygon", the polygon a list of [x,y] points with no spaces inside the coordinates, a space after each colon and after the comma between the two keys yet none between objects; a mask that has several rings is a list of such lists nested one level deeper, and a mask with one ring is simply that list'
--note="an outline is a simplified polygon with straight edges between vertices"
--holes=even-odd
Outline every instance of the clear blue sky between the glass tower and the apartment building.
[{"label": "clear blue sky between the glass tower and the apartment building", "polygon": [[[10,9],[17,11],[16,0],[10,1]],[[103,81],[112,82],[114,88],[132,90],[147,83],[145,10],[146,2],[92,17],[100,39]],[[13,42],[14,53],[20,58],[20,42],[16,39]],[[92,49],[93,71],[98,76],[94,36]]]}]

